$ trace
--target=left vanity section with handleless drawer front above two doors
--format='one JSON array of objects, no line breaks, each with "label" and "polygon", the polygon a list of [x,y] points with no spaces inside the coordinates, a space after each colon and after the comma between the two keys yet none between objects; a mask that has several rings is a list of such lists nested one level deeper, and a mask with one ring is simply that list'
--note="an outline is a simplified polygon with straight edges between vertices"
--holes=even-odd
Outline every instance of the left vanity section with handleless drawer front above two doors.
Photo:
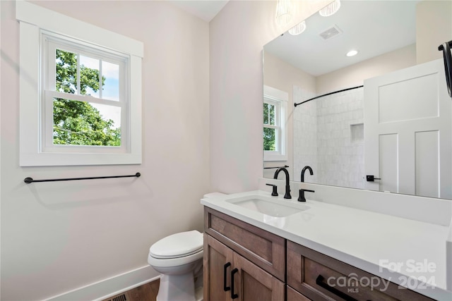
[{"label": "left vanity section with handleless drawer front above two doors", "polygon": [[285,300],[285,240],[213,209],[205,217],[204,300]]}]

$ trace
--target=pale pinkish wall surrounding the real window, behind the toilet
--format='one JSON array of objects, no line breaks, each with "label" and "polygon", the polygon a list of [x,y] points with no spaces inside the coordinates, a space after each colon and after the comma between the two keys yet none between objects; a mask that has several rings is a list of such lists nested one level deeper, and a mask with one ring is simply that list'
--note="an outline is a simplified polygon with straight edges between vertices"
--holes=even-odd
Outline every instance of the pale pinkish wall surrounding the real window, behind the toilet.
[{"label": "pale pinkish wall surrounding the real window, behind the toilet", "polygon": [[[8,301],[148,266],[153,242],[202,231],[199,199],[210,187],[208,23],[165,1],[35,3],[144,42],[143,164],[18,166],[19,32],[14,2],[1,1],[1,300]],[[141,178],[23,183],[137,171]]]}]

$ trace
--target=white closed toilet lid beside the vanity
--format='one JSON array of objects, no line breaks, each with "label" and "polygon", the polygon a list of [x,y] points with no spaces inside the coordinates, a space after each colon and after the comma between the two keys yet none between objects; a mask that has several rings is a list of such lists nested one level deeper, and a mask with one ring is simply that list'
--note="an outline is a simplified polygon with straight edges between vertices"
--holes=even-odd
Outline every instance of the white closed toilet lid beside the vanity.
[{"label": "white closed toilet lid beside the vanity", "polygon": [[193,230],[175,233],[155,242],[149,252],[155,258],[177,258],[203,250],[203,234]]}]

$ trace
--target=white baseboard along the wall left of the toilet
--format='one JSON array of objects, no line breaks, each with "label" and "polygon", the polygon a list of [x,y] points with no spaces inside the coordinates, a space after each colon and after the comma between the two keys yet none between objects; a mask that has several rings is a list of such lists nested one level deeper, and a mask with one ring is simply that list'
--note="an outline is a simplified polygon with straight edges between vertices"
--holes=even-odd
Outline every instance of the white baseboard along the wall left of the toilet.
[{"label": "white baseboard along the wall left of the toilet", "polygon": [[143,266],[81,288],[76,288],[61,295],[50,297],[46,301],[105,300],[145,283],[155,281],[158,278],[160,276],[155,276],[155,270],[152,267]]}]

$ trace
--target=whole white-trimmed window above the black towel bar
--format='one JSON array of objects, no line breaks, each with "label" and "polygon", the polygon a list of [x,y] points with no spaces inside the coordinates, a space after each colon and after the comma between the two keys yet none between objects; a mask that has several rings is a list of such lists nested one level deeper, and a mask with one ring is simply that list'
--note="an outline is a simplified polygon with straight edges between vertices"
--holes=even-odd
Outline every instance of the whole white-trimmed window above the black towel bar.
[{"label": "whole white-trimmed window above the black towel bar", "polygon": [[20,166],[141,164],[143,43],[25,1]]}]

